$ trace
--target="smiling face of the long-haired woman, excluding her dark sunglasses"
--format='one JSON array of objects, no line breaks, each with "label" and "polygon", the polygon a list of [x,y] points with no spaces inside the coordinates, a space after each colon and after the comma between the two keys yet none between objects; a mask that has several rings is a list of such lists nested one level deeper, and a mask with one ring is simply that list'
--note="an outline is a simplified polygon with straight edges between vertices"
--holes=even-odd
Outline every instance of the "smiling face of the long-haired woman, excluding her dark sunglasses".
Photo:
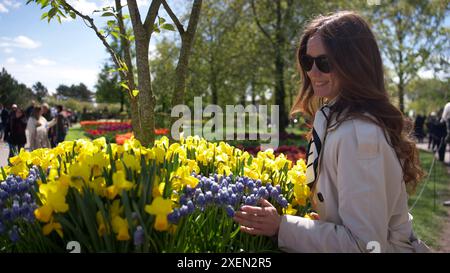
[{"label": "smiling face of the long-haired woman, excluding her dark sunglasses", "polygon": [[[320,35],[313,35],[308,39],[308,44],[306,45],[306,55],[314,58],[326,54],[325,46]],[[311,70],[306,73],[311,80],[315,96],[325,97],[330,100],[337,96],[338,92],[336,88],[336,80],[334,80],[333,77],[333,71],[330,73],[324,73],[317,68],[316,63],[314,62]]]}]

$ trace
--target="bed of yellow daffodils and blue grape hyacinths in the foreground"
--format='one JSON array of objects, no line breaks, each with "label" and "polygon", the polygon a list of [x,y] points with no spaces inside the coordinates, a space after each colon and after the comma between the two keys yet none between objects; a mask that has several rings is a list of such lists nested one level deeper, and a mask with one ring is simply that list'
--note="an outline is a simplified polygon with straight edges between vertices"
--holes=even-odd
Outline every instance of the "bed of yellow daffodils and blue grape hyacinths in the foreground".
[{"label": "bed of yellow daffodils and blue grape hyacinths in the foreground", "polygon": [[65,141],[10,162],[0,173],[0,251],[65,252],[69,241],[82,252],[274,251],[239,232],[234,212],[260,198],[280,213],[309,208],[303,160],[198,137],[152,148]]}]

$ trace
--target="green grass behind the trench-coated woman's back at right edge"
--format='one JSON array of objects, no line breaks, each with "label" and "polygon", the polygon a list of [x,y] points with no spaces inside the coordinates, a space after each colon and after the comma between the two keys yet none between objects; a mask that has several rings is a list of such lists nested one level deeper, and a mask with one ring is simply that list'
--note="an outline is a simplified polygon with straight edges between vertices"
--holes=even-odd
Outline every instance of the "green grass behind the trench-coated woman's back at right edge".
[{"label": "green grass behind the trench-coated woman's back at right edge", "polygon": [[[433,161],[433,154],[421,151],[420,161],[423,169],[428,172]],[[421,240],[437,250],[444,220],[448,217],[447,209],[442,202],[450,199],[450,175],[447,173],[445,165],[436,160],[433,171],[427,180],[424,179],[419,184],[416,193],[409,199],[409,206],[411,208],[423,189],[422,196],[410,212],[414,217],[414,231]]]}]

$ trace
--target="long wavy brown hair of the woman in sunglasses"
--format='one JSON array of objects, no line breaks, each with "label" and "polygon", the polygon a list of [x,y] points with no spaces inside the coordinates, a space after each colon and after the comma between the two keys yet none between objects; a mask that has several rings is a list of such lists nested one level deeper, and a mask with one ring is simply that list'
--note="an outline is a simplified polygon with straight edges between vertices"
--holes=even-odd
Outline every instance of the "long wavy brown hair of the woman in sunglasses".
[{"label": "long wavy brown hair of the woman in sunglasses", "polygon": [[314,96],[311,80],[299,61],[306,54],[308,40],[313,35],[320,35],[331,73],[337,80],[339,95],[332,112],[336,114],[338,124],[347,119],[362,118],[380,126],[402,166],[408,192],[414,192],[424,172],[411,138],[412,122],[390,102],[375,36],[357,13],[342,11],[319,16],[306,26],[297,51],[302,84],[291,115],[302,112],[313,117],[324,102],[323,98]]}]

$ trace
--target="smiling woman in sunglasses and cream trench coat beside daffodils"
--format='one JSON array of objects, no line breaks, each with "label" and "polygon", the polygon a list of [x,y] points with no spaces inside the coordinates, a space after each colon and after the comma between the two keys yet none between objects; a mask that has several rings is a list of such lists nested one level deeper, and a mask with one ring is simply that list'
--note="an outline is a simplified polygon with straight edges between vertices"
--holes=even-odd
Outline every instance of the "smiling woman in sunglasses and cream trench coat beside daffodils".
[{"label": "smiling woman in sunglasses and cream trench coat beside daffodils", "polygon": [[307,179],[317,215],[280,216],[262,200],[236,213],[241,231],[276,236],[287,252],[427,251],[408,213],[407,188],[423,177],[412,126],[389,101],[368,24],[353,12],[320,16],[297,55],[302,86],[291,113],[315,113]]}]

